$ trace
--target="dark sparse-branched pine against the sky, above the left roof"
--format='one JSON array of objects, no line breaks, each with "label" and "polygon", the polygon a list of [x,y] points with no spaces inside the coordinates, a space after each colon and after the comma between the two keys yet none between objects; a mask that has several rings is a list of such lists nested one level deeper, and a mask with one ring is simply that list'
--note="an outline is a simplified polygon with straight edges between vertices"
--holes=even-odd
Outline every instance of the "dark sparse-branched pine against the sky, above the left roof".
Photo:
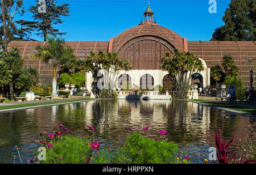
[{"label": "dark sparse-branched pine against the sky, above the left roof", "polygon": [[47,39],[47,33],[52,36],[64,35],[65,32],[59,32],[55,29],[53,25],[62,24],[62,16],[69,16],[69,4],[63,3],[61,6],[57,6],[55,0],[45,0],[46,1],[46,12],[40,12],[38,1],[36,1],[36,6],[30,6],[29,11],[32,12],[34,22],[36,24],[32,25],[36,29],[36,35],[44,37],[44,41]]}]

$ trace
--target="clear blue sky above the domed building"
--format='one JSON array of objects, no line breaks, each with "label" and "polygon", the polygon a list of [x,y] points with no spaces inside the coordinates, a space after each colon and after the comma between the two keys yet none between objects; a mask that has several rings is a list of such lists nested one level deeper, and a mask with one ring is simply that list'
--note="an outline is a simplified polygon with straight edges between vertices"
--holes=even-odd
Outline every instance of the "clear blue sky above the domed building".
[{"label": "clear blue sky above the domed building", "polygon": [[[35,0],[23,0],[24,7],[36,5]],[[222,17],[230,0],[216,0],[217,13],[210,14],[209,0],[151,0],[150,7],[155,13],[156,22],[186,37],[188,41],[208,41],[214,29],[224,24]],[[70,16],[62,18],[63,24],[56,25],[65,41],[109,41],[119,33],[138,25],[146,10],[148,0],[137,1],[88,1],[57,0],[69,3]],[[14,20],[32,20],[32,14],[15,16]],[[35,40],[43,37],[32,35]]]}]

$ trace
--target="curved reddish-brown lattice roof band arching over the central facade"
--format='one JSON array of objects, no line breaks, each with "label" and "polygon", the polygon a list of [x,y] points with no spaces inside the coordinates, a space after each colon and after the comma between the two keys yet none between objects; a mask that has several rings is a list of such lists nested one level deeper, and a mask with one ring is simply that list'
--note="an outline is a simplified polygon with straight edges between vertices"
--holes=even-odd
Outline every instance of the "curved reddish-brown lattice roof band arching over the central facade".
[{"label": "curved reddish-brown lattice roof band arching over the central facade", "polygon": [[115,37],[113,39],[112,52],[118,52],[124,44],[142,36],[159,38],[180,51],[184,50],[183,37],[176,32],[155,23],[144,22],[138,26],[127,29]]}]

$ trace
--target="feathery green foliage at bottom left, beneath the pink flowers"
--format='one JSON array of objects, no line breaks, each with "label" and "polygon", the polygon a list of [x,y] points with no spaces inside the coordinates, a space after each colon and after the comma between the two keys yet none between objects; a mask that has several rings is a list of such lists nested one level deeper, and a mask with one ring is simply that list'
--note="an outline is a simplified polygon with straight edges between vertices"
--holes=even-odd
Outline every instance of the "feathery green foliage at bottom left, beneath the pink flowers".
[{"label": "feathery green foliage at bottom left, beneath the pink flowers", "polygon": [[[90,157],[90,164],[111,164],[130,163],[130,159],[122,152],[122,148],[117,150],[94,151],[90,147],[89,138],[78,138],[75,136],[61,136],[57,140],[52,140],[53,147],[47,148],[46,160],[41,163],[46,164],[85,164],[86,158]],[[58,159],[62,157],[62,159]]]}]

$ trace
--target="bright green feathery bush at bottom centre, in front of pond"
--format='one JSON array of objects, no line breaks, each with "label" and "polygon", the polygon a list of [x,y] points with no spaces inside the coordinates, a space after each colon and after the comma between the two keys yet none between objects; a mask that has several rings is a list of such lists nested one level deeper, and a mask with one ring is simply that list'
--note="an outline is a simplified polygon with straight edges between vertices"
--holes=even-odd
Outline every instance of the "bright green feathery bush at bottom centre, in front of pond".
[{"label": "bright green feathery bush at bottom centre, in front of pond", "polygon": [[125,141],[125,152],[134,164],[170,164],[175,163],[177,145],[165,140],[154,140],[131,133]]}]

